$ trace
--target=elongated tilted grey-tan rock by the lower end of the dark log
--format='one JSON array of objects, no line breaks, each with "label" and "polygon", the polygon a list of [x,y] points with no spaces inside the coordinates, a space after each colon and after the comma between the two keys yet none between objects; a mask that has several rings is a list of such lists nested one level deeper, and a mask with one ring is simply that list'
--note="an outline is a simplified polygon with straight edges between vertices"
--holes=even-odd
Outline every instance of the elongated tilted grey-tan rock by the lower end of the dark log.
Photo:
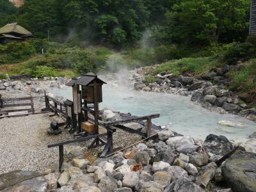
[{"label": "elongated tilted grey-tan rock by the lower end of the dark log", "polygon": [[214,177],[217,165],[212,162],[207,164],[200,170],[200,176],[196,179],[196,184],[198,186],[202,186],[203,188],[207,187],[209,181]]}]

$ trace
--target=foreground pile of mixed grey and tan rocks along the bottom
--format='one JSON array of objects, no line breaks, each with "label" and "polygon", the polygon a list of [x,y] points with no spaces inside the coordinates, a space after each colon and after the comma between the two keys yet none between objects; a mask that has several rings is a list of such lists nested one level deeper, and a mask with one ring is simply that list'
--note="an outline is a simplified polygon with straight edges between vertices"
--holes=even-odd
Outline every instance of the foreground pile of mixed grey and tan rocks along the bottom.
[{"label": "foreground pile of mixed grey and tan rocks along the bottom", "polygon": [[165,130],[159,132],[157,140],[140,143],[95,163],[84,158],[81,147],[67,148],[67,162],[61,173],[47,169],[44,176],[36,175],[33,182],[27,179],[8,186],[6,179],[3,186],[12,191],[34,188],[65,192],[255,190],[256,154],[241,148],[220,167],[215,163],[232,148],[224,136],[210,134],[203,142]]}]

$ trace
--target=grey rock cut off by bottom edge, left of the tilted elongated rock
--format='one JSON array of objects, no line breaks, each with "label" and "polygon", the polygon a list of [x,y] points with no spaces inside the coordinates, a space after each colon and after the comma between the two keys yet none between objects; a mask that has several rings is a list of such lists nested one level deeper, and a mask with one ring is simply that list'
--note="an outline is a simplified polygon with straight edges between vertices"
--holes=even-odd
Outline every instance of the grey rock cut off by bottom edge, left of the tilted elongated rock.
[{"label": "grey rock cut off by bottom edge, left of the tilted elongated rock", "polygon": [[193,183],[188,178],[180,178],[175,182],[174,186],[175,192],[184,192],[184,191],[193,191],[193,192],[203,192],[204,190],[200,188],[198,185]]}]

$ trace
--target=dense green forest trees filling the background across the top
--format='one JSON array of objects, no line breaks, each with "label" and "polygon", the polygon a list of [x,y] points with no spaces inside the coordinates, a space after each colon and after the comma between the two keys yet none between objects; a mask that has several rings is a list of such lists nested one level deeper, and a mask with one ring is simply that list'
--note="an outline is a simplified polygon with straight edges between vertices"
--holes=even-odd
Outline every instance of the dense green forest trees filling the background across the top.
[{"label": "dense green forest trees filling the background across the top", "polygon": [[51,40],[118,47],[147,30],[154,44],[243,42],[250,16],[250,0],[26,0],[17,9],[1,0],[0,8],[2,24],[17,21],[38,37],[49,30]]}]

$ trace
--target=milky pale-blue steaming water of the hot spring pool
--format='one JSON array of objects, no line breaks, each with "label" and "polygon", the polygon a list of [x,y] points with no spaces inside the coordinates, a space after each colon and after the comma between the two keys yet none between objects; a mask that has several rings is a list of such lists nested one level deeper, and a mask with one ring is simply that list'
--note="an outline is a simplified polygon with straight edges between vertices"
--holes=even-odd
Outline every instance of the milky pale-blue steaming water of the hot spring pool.
[{"label": "milky pale-blue steaming water of the hot spring pool", "polygon": [[[72,100],[70,88],[50,90]],[[190,134],[193,138],[204,140],[210,134],[224,135],[229,140],[243,140],[256,131],[256,124],[244,117],[207,111],[191,102],[189,97],[170,93],[138,92],[132,88],[120,88],[107,84],[103,86],[103,102],[100,108],[132,113],[132,115],[148,115],[160,113],[160,118],[153,122],[157,125],[170,125],[173,131]],[[243,127],[227,127],[217,124],[220,120],[239,122]]]}]

